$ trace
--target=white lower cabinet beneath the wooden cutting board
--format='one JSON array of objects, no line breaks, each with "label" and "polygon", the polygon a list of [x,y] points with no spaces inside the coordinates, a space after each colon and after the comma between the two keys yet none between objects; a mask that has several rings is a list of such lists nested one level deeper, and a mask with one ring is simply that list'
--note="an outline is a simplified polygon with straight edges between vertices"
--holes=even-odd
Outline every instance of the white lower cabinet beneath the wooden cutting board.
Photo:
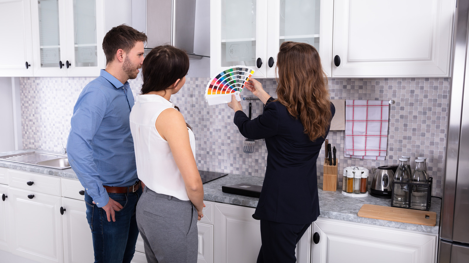
[{"label": "white lower cabinet beneath the wooden cutting board", "polygon": [[312,233],[314,263],[436,262],[437,234],[323,218],[313,223]]}]

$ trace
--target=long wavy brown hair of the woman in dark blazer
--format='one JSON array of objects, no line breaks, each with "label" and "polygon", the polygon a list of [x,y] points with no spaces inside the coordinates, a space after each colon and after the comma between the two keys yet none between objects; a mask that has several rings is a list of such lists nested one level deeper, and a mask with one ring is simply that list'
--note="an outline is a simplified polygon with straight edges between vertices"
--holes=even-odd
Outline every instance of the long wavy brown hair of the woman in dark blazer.
[{"label": "long wavy brown hair of the woman in dark blazer", "polygon": [[277,55],[277,96],[291,116],[299,118],[304,133],[314,141],[331,124],[327,77],[318,51],[310,44],[283,42]]}]

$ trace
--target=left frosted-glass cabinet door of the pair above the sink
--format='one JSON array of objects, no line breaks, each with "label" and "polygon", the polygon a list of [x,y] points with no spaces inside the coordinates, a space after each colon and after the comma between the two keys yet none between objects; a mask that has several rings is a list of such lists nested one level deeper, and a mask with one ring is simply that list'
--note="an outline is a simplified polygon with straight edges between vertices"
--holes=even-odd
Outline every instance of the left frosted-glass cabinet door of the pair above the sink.
[{"label": "left frosted-glass cabinet door of the pair above the sink", "polygon": [[[67,75],[63,1],[31,0],[34,75]],[[37,21],[37,23],[35,23]]]}]

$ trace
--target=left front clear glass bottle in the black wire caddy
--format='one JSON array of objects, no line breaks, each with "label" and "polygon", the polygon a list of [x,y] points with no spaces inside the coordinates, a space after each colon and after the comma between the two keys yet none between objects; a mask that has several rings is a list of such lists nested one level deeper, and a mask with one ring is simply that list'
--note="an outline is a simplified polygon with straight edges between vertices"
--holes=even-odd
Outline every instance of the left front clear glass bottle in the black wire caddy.
[{"label": "left front clear glass bottle in the black wire caddy", "polygon": [[393,191],[393,206],[408,208],[408,184],[399,184],[408,182],[410,180],[410,174],[406,168],[405,162],[408,161],[406,158],[399,159],[399,167],[394,174],[394,191]]}]

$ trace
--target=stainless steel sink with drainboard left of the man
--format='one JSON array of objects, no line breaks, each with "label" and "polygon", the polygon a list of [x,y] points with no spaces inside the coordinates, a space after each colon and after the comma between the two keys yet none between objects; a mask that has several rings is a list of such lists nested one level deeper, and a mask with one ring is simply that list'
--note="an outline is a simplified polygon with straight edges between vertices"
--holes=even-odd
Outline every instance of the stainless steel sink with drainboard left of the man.
[{"label": "stainless steel sink with drainboard left of the man", "polygon": [[17,153],[12,155],[0,156],[0,160],[13,161],[23,164],[37,165],[55,169],[70,168],[67,156],[53,153]]}]

